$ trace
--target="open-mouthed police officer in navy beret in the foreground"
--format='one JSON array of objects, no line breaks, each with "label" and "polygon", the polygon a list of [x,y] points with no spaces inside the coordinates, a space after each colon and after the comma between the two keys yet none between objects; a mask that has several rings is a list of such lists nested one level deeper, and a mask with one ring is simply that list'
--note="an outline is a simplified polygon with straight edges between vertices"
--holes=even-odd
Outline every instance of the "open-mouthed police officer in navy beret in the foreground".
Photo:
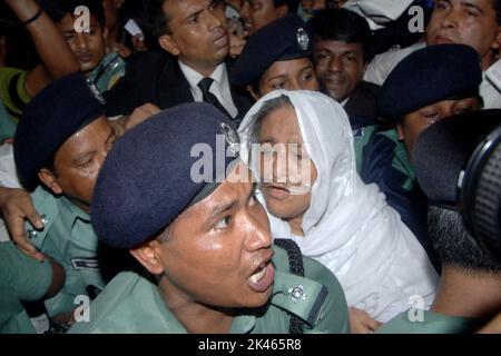
[{"label": "open-mouthed police officer in navy beret in the foreground", "polygon": [[145,273],[119,274],[71,333],[347,332],[335,277],[272,245],[238,149],[229,120],[207,103],[168,109],[117,141],[91,219]]}]

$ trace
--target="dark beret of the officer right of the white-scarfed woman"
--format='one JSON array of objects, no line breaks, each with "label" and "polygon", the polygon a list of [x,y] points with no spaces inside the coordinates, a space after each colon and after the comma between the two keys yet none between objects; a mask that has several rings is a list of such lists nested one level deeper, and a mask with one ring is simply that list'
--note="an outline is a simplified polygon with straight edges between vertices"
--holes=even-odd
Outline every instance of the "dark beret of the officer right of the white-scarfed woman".
[{"label": "dark beret of the officer right of the white-scarfed woman", "polygon": [[471,97],[481,81],[480,57],[473,48],[428,46],[392,70],[381,88],[377,115],[390,121],[449,98]]}]

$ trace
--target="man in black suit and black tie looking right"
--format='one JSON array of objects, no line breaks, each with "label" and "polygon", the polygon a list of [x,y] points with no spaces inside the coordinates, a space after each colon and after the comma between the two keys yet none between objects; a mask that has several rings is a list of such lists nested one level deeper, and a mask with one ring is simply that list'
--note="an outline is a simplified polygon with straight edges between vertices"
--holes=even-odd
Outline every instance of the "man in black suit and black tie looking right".
[{"label": "man in black suit and black tie looking right", "polygon": [[229,85],[225,8],[222,0],[153,1],[148,17],[163,50],[130,59],[126,76],[105,95],[107,115],[146,102],[166,109],[206,101],[238,125],[253,100]]}]

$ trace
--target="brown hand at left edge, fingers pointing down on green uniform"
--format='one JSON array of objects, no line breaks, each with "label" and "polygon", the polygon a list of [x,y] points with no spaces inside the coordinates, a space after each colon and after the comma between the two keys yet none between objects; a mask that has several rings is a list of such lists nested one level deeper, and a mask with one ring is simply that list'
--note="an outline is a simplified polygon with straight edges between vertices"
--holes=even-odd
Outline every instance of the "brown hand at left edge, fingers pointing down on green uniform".
[{"label": "brown hand at left edge, fingers pointing down on green uniform", "polygon": [[43,229],[43,221],[35,209],[31,196],[22,189],[2,187],[0,188],[0,211],[12,240],[19,249],[35,259],[45,260],[45,256],[37,250],[26,236],[26,219],[37,229]]}]

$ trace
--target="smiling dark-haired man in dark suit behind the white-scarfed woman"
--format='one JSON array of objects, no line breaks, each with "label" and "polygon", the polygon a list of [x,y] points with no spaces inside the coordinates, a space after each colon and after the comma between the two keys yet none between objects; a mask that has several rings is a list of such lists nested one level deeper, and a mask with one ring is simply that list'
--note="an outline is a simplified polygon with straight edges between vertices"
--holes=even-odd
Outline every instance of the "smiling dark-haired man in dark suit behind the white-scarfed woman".
[{"label": "smiling dark-haired man in dark suit behind the white-scarfed woman", "polygon": [[373,125],[379,86],[363,81],[372,34],[366,21],[345,9],[312,20],[314,61],[326,93],[346,110],[354,130]]}]

